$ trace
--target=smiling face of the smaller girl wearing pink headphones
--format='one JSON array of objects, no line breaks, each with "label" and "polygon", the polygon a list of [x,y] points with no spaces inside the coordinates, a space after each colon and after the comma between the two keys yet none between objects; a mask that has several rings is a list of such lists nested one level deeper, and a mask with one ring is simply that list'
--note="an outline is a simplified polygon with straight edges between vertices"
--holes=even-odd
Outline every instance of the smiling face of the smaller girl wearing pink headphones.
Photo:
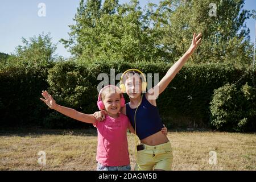
[{"label": "smiling face of the smaller girl wearing pink headphones", "polygon": [[106,93],[102,100],[105,106],[105,110],[110,117],[118,117],[118,113],[121,110],[121,96],[119,93]]}]

